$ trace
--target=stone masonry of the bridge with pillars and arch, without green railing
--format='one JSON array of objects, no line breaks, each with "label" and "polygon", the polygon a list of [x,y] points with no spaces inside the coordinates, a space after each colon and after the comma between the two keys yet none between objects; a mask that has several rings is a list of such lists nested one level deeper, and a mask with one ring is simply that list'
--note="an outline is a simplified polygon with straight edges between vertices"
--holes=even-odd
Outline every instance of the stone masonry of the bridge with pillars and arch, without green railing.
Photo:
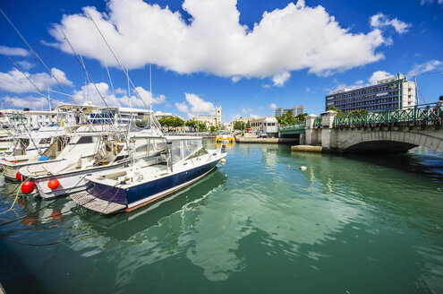
[{"label": "stone masonry of the bridge with pillars and arch, without green railing", "polygon": [[[405,152],[416,146],[443,152],[441,118],[396,122],[337,124],[337,112],[306,117],[305,143],[324,151]],[[317,124],[315,122],[318,122]]]}]

